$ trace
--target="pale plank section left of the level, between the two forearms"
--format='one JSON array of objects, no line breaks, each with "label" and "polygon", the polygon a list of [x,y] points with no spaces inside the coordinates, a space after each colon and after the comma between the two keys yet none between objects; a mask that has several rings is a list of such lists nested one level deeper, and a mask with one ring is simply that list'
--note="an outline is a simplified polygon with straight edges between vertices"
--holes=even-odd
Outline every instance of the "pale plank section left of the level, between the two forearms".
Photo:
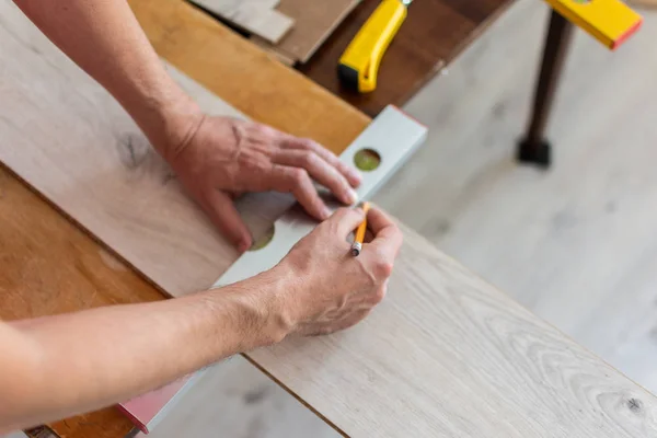
[{"label": "pale plank section left of the level, between the two forearms", "polygon": [[[129,116],[8,1],[0,35],[0,92],[12,102],[0,107],[0,160],[168,293],[208,288],[237,253]],[[209,113],[241,116],[171,72]],[[246,217],[260,217],[261,198],[242,203]]]}]

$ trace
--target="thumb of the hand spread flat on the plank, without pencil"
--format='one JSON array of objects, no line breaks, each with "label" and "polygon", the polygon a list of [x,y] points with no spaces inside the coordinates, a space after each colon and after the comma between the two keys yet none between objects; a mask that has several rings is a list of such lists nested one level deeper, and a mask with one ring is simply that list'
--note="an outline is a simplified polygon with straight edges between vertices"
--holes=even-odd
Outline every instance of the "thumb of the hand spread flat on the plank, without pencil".
[{"label": "thumb of the hand spread flat on the plank, without pencil", "polygon": [[210,189],[205,196],[203,205],[210,220],[219,228],[240,253],[251,247],[253,238],[246,224],[235,209],[232,199],[223,192]]}]

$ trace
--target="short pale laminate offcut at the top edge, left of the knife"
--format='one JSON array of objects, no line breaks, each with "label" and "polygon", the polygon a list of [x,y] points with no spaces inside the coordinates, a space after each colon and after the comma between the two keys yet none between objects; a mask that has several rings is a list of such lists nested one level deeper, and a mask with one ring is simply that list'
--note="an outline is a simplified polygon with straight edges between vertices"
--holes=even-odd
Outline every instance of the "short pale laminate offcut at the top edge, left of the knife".
[{"label": "short pale laminate offcut at the top edge, left of the knife", "polygon": [[278,43],[295,24],[289,16],[272,9],[272,2],[244,0],[193,0],[238,27],[269,43]]}]

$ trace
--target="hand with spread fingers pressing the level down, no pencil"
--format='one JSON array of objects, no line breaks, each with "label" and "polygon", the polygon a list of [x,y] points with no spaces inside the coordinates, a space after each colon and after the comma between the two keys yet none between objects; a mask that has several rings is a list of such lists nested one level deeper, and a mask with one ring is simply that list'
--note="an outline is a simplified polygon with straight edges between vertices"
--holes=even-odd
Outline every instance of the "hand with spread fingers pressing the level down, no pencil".
[{"label": "hand with spread fingers pressing the level down, no pencil", "polygon": [[240,252],[251,246],[252,237],[233,205],[235,196],[291,193],[311,216],[323,220],[331,211],[313,180],[345,204],[357,200],[353,187],[360,184],[355,169],[316,142],[230,117],[204,116],[165,157],[184,187]]}]

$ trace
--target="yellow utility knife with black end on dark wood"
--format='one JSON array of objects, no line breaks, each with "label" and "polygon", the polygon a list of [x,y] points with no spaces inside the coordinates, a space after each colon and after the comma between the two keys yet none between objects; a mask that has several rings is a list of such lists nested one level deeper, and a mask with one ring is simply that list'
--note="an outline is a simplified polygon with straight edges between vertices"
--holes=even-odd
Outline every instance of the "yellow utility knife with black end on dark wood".
[{"label": "yellow utility knife with black end on dark wood", "polygon": [[337,74],[344,85],[367,93],[377,88],[385,49],[406,19],[411,0],[383,0],[339,58]]}]

